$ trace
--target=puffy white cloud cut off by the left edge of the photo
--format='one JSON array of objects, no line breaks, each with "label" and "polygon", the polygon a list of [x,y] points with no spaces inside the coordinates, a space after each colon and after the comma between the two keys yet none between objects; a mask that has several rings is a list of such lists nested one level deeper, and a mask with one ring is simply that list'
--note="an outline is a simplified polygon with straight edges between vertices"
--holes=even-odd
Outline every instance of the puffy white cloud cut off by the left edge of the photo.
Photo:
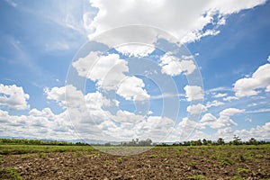
[{"label": "puffy white cloud cut off by the left edge of the photo", "polygon": [[25,94],[23,87],[17,85],[0,84],[0,105],[10,110],[25,110],[30,106],[27,104],[29,94]]}]

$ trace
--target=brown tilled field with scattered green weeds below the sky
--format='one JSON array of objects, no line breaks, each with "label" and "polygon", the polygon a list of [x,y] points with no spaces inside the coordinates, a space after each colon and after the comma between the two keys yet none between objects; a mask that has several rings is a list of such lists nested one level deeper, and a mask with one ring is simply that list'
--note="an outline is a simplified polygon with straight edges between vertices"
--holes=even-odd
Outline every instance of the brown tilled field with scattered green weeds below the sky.
[{"label": "brown tilled field with scattered green weeds below the sky", "polygon": [[0,179],[270,179],[269,144],[155,147],[132,156],[89,146],[0,145],[0,154]]}]

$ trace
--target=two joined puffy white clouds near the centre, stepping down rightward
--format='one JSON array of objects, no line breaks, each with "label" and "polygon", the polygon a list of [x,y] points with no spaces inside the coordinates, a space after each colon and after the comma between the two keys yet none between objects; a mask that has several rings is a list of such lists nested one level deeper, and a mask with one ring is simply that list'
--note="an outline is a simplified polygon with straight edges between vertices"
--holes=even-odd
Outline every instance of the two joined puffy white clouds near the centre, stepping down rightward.
[{"label": "two joined puffy white clouds near the centre, stepping down rightward", "polygon": [[129,72],[128,62],[121,59],[118,54],[102,56],[100,52],[90,52],[72,65],[79,76],[91,79],[103,90],[115,90],[126,100],[144,101],[149,98],[140,78],[125,75]]}]

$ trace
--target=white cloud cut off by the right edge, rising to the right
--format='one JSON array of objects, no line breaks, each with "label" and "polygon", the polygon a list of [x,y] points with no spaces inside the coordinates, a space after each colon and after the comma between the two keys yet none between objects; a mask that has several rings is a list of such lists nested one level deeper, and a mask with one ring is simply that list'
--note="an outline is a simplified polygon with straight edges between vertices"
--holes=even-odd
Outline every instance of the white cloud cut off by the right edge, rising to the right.
[{"label": "white cloud cut off by the right edge, rising to the right", "polygon": [[260,88],[270,88],[270,64],[262,65],[252,74],[251,77],[238,79],[234,84],[234,91],[237,97],[257,95]]}]

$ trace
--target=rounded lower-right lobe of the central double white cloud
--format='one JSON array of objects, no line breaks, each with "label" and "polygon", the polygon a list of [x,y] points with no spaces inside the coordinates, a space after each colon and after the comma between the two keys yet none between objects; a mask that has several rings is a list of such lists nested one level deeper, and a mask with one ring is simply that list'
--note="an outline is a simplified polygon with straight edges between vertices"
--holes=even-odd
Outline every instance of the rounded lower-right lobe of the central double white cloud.
[{"label": "rounded lower-right lobe of the central double white cloud", "polygon": [[126,76],[121,81],[116,93],[124,97],[126,100],[145,101],[149,99],[150,95],[144,87],[143,81],[136,76]]}]

